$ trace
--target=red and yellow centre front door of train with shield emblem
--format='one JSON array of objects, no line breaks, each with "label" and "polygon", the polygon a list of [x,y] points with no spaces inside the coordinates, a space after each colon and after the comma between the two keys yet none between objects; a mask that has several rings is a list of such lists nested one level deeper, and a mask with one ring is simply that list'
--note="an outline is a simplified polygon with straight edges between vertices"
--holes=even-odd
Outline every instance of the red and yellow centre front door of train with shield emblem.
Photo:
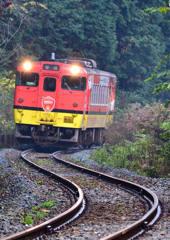
[{"label": "red and yellow centre front door of train with shield emblem", "polygon": [[41,124],[56,122],[55,109],[57,106],[58,77],[55,75],[41,75],[38,93],[38,110],[36,120]]}]

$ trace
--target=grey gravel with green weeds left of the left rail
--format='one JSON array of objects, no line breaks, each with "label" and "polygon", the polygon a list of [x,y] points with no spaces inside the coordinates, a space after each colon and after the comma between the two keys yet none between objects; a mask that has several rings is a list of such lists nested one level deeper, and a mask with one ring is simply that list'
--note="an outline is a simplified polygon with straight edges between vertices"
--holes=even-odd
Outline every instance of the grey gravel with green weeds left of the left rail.
[{"label": "grey gravel with green weeds left of the left rail", "polygon": [[[40,224],[71,207],[67,192],[29,168],[20,159],[20,151],[0,151],[0,171],[0,239]],[[49,201],[55,202],[51,209],[44,207]]]}]

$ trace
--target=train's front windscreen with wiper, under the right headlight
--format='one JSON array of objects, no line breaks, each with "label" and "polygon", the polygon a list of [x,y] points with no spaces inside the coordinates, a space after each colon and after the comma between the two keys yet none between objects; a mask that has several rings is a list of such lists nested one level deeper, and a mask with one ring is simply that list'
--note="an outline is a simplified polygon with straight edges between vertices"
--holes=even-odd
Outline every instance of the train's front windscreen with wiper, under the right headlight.
[{"label": "train's front windscreen with wiper, under the right headlight", "polygon": [[62,89],[85,91],[86,78],[78,76],[63,76],[61,87]]}]

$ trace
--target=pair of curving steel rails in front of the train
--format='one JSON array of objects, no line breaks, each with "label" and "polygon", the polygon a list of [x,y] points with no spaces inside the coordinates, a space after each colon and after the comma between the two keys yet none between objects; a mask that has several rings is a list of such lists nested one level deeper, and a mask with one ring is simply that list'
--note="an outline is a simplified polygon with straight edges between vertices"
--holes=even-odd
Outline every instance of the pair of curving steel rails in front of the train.
[{"label": "pair of curving steel rails in front of the train", "polygon": [[[59,177],[53,172],[47,171],[44,168],[39,167],[38,165],[34,164],[30,160],[28,160],[27,156],[29,153],[31,153],[32,150],[27,150],[22,153],[22,158],[25,162],[27,162],[30,166],[34,167],[38,171],[46,174],[47,176],[54,178],[57,181],[61,181],[62,184],[66,185],[66,187],[71,191],[74,196],[76,196],[76,202],[75,204],[69,209],[68,211],[64,212],[63,214],[60,214],[56,216],[55,218],[44,222],[43,224],[37,225],[33,228],[30,228],[26,231],[23,231],[21,233],[12,235],[10,237],[5,238],[6,240],[9,239],[48,239],[47,233],[48,232],[55,232],[58,227],[61,227],[63,224],[71,221],[71,219],[74,219],[74,216],[80,213],[82,213],[84,206],[85,206],[85,200],[83,200],[83,192],[82,190],[72,182],[68,181],[64,178]],[[135,236],[141,235],[146,229],[151,227],[159,218],[161,213],[161,207],[159,204],[159,200],[157,196],[151,192],[149,189],[142,187],[140,185],[131,183],[129,181],[121,180],[118,178],[113,178],[108,175],[105,175],[103,173],[92,171],[90,169],[87,169],[82,166],[78,166],[76,164],[71,164],[68,161],[65,161],[61,159],[60,154],[62,152],[55,152],[53,153],[53,157],[57,162],[60,162],[67,167],[71,167],[73,169],[76,169],[78,171],[81,171],[83,173],[86,173],[88,175],[92,175],[96,177],[96,179],[100,179],[102,181],[107,181],[112,184],[116,184],[119,187],[122,187],[126,191],[133,192],[140,199],[142,199],[143,202],[145,202],[145,205],[148,206],[148,211],[143,215],[139,220],[137,220],[135,223],[131,224],[130,226],[123,228],[122,230],[110,234],[107,237],[102,238],[102,240],[109,240],[109,239],[133,239]]]}]

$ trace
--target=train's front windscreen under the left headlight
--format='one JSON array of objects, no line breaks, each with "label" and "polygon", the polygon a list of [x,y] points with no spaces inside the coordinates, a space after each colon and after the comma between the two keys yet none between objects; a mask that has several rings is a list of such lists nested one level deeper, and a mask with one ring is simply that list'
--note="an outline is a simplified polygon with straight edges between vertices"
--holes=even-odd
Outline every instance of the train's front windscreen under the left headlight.
[{"label": "train's front windscreen under the left headlight", "polygon": [[17,72],[16,85],[37,87],[39,83],[39,74],[32,72]]}]

